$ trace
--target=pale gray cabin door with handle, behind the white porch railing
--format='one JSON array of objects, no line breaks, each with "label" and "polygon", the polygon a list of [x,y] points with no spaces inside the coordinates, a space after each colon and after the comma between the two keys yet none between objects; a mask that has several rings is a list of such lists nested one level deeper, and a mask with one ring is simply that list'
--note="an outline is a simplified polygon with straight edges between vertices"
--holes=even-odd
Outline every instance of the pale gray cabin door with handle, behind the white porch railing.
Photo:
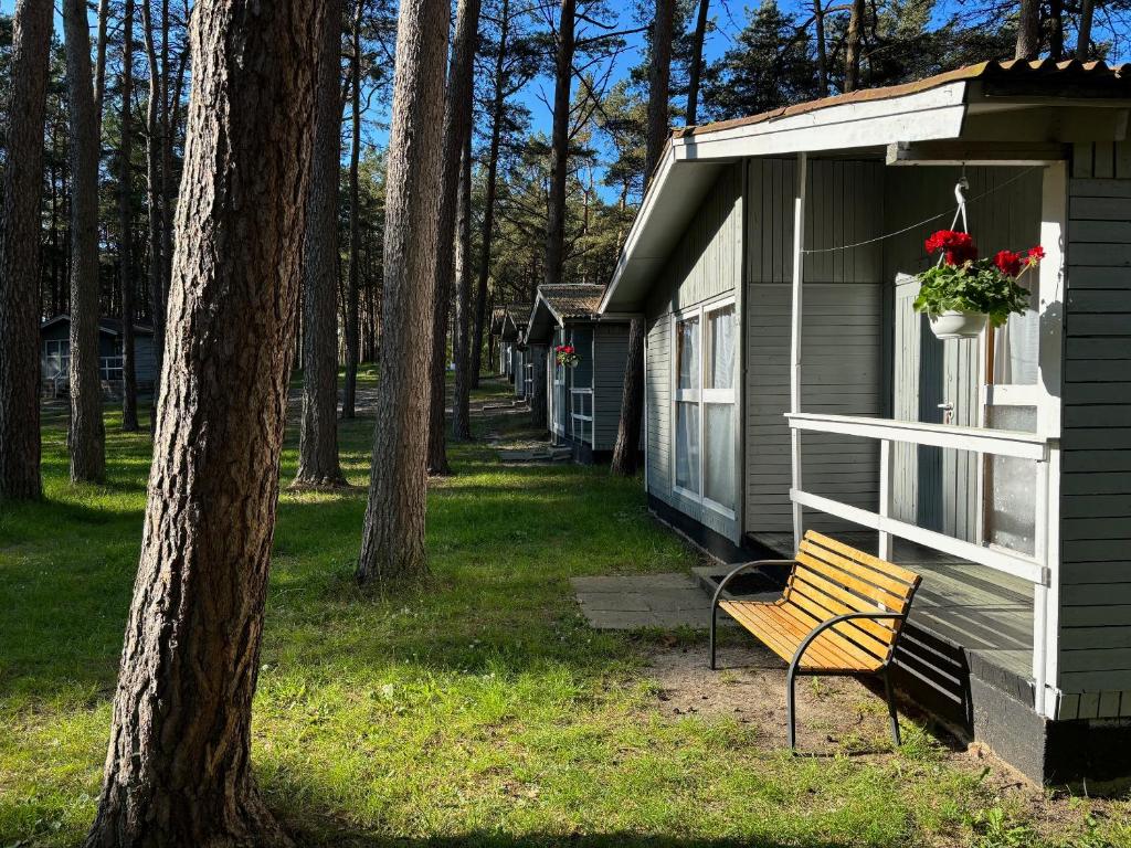
[{"label": "pale gray cabin door with handle, behind the white porch railing", "polygon": [[[895,417],[975,427],[982,424],[982,343],[940,341],[926,315],[915,312],[918,282],[896,278],[892,363]],[[977,542],[981,475],[977,455],[913,444],[896,445],[895,516],[948,536]]]}]

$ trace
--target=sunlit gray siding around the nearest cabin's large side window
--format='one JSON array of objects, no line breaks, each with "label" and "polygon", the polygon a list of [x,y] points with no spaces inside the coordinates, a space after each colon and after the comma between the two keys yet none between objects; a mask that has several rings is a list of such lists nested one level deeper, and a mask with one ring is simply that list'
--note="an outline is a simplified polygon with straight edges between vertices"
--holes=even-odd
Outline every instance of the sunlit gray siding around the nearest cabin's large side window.
[{"label": "sunlit gray siding around the nearest cabin's large side window", "polygon": [[[673,490],[672,314],[737,292],[742,279],[742,164],[726,168],[672,250],[646,304],[645,375],[648,492],[706,527],[737,542],[740,527],[715,510]],[[741,409],[741,405],[739,407]],[[615,434],[613,436],[615,439]]]}]

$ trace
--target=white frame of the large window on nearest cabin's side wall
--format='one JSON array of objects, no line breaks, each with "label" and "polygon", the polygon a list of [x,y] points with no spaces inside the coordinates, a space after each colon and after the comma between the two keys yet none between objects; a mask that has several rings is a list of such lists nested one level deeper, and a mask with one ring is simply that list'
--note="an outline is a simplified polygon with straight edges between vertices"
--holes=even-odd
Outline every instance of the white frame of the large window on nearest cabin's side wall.
[{"label": "white frame of the large window on nearest cabin's side wall", "polygon": [[[714,406],[729,406],[732,415],[734,417],[735,429],[740,426],[737,421],[739,414],[739,380],[741,374],[741,369],[739,367],[740,356],[741,356],[741,344],[742,334],[736,331],[734,334],[735,344],[735,356],[733,360],[734,373],[731,379],[729,389],[708,389],[706,388],[707,378],[707,336],[708,336],[708,322],[713,314],[720,312],[725,309],[732,309],[734,311],[732,320],[735,325],[739,322],[739,306],[737,297],[734,294],[726,295],[724,297],[708,301],[705,303],[699,303],[694,306],[680,310],[672,313],[671,319],[671,339],[672,339],[672,362],[671,362],[671,449],[672,449],[672,491],[679,494],[681,497],[698,503],[720,516],[729,519],[737,519],[737,505],[739,505],[739,481],[741,479],[741,474],[735,477],[735,491],[732,493],[734,496],[734,508],[726,507],[707,496],[706,494],[706,482],[707,482],[707,443],[706,443],[706,410],[707,405]],[[680,325],[693,320],[697,322],[699,329],[699,362],[698,362],[698,386],[694,389],[681,389],[680,388]],[[737,330],[737,326],[735,327]],[[676,432],[676,422],[679,419],[679,405],[683,404],[694,404],[699,412],[699,491],[692,492],[691,490],[684,488],[676,483],[676,466],[679,464],[679,435]],[[732,445],[732,450],[734,445]],[[737,456],[735,456],[735,461],[737,461]]]}]

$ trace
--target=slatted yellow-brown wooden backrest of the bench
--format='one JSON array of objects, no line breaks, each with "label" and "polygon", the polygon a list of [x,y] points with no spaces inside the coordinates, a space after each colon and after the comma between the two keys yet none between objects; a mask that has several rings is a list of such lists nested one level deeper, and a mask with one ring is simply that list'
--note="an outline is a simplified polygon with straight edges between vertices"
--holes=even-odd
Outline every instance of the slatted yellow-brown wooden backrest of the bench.
[{"label": "slatted yellow-brown wooden backrest of the bench", "polygon": [[[920,580],[907,569],[810,530],[797,552],[784,602],[800,607],[814,622],[858,612],[906,615]],[[896,618],[855,618],[832,629],[888,660],[901,624]]]}]

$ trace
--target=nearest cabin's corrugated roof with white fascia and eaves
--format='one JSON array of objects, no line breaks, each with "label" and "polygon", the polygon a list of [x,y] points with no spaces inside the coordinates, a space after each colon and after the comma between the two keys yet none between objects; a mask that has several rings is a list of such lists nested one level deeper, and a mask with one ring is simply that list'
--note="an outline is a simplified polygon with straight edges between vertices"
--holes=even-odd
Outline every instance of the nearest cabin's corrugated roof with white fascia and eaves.
[{"label": "nearest cabin's corrugated roof with white fascia and eaves", "polygon": [[[703,197],[731,164],[798,153],[883,161],[899,147],[1026,146],[1063,158],[1074,141],[1113,140],[1131,106],[1131,64],[979,62],[915,83],[676,128],[653,172],[599,311],[639,309]],[[996,158],[1001,158],[999,155]]]}]

